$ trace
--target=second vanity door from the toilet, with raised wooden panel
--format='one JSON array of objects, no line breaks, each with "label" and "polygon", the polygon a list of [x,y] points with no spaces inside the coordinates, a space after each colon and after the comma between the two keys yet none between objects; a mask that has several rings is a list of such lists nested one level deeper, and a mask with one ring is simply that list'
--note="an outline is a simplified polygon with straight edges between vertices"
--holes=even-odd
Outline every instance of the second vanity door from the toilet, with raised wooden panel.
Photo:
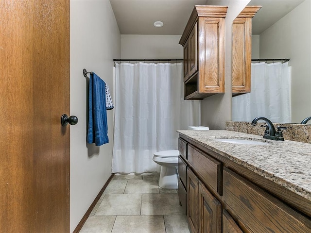
[{"label": "second vanity door from the toilet, with raised wooden panel", "polygon": [[199,182],[198,222],[200,233],[222,231],[222,205],[201,182]]}]

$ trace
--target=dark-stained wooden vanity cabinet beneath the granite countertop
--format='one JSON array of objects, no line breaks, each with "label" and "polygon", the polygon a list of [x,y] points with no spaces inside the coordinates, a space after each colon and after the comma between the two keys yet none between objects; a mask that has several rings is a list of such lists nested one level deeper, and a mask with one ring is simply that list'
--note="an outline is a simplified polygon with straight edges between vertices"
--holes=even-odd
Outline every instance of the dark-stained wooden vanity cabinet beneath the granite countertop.
[{"label": "dark-stained wooden vanity cabinet beneath the granite countertop", "polygon": [[311,214],[293,207],[300,197],[274,189],[266,178],[186,140],[179,138],[180,154],[187,152],[186,158],[180,156],[187,184],[179,179],[185,189],[179,197],[187,196],[191,233],[311,233]]}]

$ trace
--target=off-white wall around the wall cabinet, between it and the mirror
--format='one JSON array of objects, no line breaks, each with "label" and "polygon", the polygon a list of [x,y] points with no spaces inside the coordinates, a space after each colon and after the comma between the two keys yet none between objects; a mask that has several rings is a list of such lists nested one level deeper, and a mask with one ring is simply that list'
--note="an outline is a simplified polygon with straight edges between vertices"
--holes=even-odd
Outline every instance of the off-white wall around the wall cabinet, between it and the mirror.
[{"label": "off-white wall around the wall cabinet, between it and the mirror", "polygon": [[225,18],[225,94],[217,94],[201,102],[201,124],[211,130],[225,130],[232,119],[232,22],[250,0],[207,0],[208,5],[228,6]]}]

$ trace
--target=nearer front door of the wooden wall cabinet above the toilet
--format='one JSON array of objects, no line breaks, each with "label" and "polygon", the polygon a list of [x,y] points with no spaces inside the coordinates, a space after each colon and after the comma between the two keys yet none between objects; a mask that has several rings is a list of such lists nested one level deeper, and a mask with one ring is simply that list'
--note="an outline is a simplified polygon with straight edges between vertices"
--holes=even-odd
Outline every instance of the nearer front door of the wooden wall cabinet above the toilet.
[{"label": "nearer front door of the wooden wall cabinet above the toilet", "polygon": [[197,23],[189,35],[189,77],[198,69]]}]

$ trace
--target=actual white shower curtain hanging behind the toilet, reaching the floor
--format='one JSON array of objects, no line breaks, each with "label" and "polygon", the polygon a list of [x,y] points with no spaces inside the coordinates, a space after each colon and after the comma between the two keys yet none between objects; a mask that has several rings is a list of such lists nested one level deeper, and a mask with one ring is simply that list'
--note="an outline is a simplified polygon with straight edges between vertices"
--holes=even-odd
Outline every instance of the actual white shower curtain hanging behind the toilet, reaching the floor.
[{"label": "actual white shower curtain hanging behind the toilet, reaching the floor", "polygon": [[182,63],[116,64],[112,173],[158,171],[155,151],[177,150],[176,130],[200,124],[200,101],[184,100]]}]

